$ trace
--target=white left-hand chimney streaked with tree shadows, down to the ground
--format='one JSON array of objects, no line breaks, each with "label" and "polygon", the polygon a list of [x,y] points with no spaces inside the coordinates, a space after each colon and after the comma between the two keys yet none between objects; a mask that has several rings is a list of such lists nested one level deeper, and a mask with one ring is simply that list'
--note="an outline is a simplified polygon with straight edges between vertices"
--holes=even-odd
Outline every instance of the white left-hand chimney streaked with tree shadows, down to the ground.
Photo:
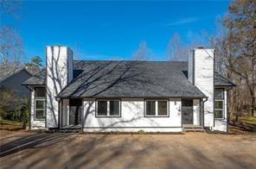
[{"label": "white left-hand chimney streaked with tree shadows, down to the ground", "polygon": [[73,55],[68,47],[47,47],[47,128],[58,127],[57,94],[72,80]]}]

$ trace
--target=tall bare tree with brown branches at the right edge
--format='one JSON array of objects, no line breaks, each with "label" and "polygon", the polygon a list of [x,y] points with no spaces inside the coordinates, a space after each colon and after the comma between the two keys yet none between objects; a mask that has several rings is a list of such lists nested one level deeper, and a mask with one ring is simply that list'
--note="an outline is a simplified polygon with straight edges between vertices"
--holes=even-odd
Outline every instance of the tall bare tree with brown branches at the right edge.
[{"label": "tall bare tree with brown branches at the right edge", "polygon": [[[244,110],[255,111],[256,85],[256,2],[236,0],[222,20],[225,34],[214,39],[219,70],[237,87],[230,92],[236,119]],[[233,105],[233,106],[232,106]]]}]

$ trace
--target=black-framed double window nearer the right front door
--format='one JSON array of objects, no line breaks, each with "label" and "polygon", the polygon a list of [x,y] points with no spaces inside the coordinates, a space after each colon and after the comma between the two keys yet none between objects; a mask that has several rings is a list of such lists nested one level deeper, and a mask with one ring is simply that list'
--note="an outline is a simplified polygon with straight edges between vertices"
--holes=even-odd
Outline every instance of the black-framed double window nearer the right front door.
[{"label": "black-framed double window nearer the right front door", "polygon": [[145,116],[169,116],[168,100],[146,100]]}]

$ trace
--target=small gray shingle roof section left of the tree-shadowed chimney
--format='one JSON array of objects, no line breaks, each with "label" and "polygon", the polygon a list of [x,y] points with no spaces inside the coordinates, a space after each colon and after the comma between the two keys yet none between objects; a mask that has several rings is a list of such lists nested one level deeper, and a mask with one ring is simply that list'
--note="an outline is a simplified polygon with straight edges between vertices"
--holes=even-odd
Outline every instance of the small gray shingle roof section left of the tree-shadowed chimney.
[{"label": "small gray shingle roof section left of the tree-shadowed chimney", "polygon": [[45,85],[46,84],[46,70],[36,73],[31,78],[27,79],[22,85]]}]

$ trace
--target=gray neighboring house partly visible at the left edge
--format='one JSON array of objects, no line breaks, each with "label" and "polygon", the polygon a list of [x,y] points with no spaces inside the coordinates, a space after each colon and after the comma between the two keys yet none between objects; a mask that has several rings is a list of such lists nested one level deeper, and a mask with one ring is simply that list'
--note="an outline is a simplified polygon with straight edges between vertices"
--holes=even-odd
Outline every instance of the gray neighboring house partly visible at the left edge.
[{"label": "gray neighboring house partly visible at the left edge", "polygon": [[0,66],[0,89],[14,91],[17,97],[29,98],[30,93],[22,83],[32,75],[22,67]]}]

